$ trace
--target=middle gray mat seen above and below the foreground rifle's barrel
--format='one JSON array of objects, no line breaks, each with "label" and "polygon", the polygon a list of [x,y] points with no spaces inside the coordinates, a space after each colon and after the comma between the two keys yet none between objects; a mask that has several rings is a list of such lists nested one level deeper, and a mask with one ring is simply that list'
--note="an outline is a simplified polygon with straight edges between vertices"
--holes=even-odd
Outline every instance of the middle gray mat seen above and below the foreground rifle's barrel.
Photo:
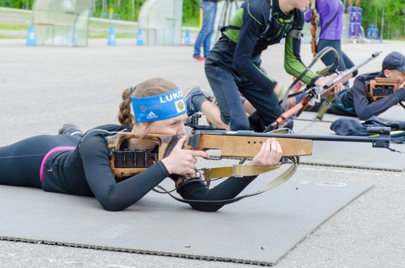
[{"label": "middle gray mat seen above and below the foreground rifle's barrel", "polygon": [[[328,122],[295,121],[294,131],[307,135],[333,135]],[[405,152],[404,144],[390,147]],[[314,141],[311,156],[301,156],[301,164],[357,167],[390,171],[405,170],[405,154],[384,148],[373,148],[371,143]]]}]

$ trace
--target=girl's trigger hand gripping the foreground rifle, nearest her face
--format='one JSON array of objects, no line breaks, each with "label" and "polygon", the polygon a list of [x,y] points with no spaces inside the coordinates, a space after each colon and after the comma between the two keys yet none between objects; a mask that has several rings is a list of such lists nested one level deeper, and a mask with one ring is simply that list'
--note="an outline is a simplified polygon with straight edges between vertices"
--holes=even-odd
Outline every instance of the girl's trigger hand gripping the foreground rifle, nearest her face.
[{"label": "girl's trigger hand gripping the foreground rifle, nearest her face", "polygon": [[161,160],[165,164],[170,174],[194,174],[195,164],[197,163],[196,156],[209,157],[209,154],[203,151],[184,150],[182,149],[186,136],[181,138],[177,145],[173,148],[170,155]]}]

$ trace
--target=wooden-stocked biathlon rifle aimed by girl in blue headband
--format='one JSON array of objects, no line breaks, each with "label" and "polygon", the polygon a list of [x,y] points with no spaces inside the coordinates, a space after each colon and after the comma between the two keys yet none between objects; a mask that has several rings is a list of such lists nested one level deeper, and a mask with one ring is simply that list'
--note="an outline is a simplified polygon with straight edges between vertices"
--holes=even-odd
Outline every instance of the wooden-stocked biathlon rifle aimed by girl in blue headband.
[{"label": "wooden-stocked biathlon rifle aimed by girl in blue headband", "polygon": [[[183,149],[188,150],[220,150],[220,155],[210,156],[209,160],[220,160],[222,158],[252,158],[268,138],[276,138],[282,148],[283,157],[296,157],[312,154],[312,141],[331,142],[368,142],[376,148],[388,148],[390,143],[389,127],[369,127],[370,134],[379,134],[379,137],[346,137],[346,136],[314,136],[296,135],[292,133],[260,133],[250,130],[227,131],[214,126],[198,125],[199,114],[194,114],[187,118],[185,124],[191,127],[191,133],[187,136]],[[149,150],[121,150],[121,143],[129,139],[153,140],[158,145],[157,153]],[[107,147],[110,153],[110,166],[114,177],[120,180],[124,177],[132,176],[144,171],[146,168],[167,157],[177,142],[181,139],[177,135],[146,134],[141,135],[133,132],[118,132],[114,136],[107,137]],[[285,158],[285,160],[287,160]],[[287,162],[287,161],[285,161]],[[296,163],[298,165],[298,163]],[[243,176],[252,166],[234,165],[231,173],[215,171],[215,168],[204,170],[206,180],[214,177]],[[279,165],[277,166],[279,167]],[[270,171],[277,167],[267,169]],[[255,174],[267,172],[266,168],[254,167]],[[220,168],[218,168],[220,169]],[[259,172],[258,172],[259,169]],[[223,170],[222,170],[223,171]],[[233,173],[232,173],[233,172]],[[292,174],[291,174],[292,175]]]}]

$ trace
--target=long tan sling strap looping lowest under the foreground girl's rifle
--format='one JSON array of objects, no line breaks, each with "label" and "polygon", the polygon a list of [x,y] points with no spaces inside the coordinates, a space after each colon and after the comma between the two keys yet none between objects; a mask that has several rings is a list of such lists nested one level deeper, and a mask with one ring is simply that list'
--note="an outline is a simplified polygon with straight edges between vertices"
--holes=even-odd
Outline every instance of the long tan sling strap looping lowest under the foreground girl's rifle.
[{"label": "long tan sling strap looping lowest under the foreground girl's rifle", "polygon": [[227,199],[227,200],[189,200],[189,199],[182,199],[179,198],[175,195],[172,195],[170,192],[168,192],[166,189],[164,189],[161,186],[157,186],[159,189],[165,191],[167,194],[169,194],[171,197],[173,197],[174,199],[176,199],[177,201],[183,202],[183,203],[188,203],[188,204],[198,204],[198,203],[215,203],[216,205],[226,205],[226,204],[230,204],[230,203],[234,203],[236,201],[239,201],[241,199],[244,199],[246,197],[249,196],[254,196],[254,195],[258,195],[261,193],[264,193],[276,186],[279,186],[285,182],[287,182],[289,180],[289,178],[295,173],[295,171],[297,170],[298,167],[298,159],[296,157],[294,157],[294,163],[288,168],[286,169],[284,172],[282,172],[280,175],[278,175],[276,178],[274,178],[274,180],[270,181],[269,183],[267,183],[265,186],[263,186],[259,191],[251,193],[251,194],[247,194],[244,196],[237,196],[235,198],[232,199]]}]

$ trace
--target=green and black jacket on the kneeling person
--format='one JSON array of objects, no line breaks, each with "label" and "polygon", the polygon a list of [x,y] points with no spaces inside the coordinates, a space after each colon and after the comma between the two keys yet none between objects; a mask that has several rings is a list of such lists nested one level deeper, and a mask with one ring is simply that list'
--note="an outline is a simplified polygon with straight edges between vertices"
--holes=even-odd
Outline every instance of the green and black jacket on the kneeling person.
[{"label": "green and black jacket on the kneeling person", "polygon": [[[300,58],[301,40],[288,35],[290,30],[301,31],[304,14],[294,9],[291,14],[281,12],[278,0],[247,0],[240,6],[229,26],[223,32],[236,46],[234,49],[233,68],[261,88],[273,88],[274,79],[270,78],[252,59],[260,56],[271,44],[286,38],[284,68],[298,77],[306,66]],[[313,85],[319,76],[308,71],[302,81]]]}]

